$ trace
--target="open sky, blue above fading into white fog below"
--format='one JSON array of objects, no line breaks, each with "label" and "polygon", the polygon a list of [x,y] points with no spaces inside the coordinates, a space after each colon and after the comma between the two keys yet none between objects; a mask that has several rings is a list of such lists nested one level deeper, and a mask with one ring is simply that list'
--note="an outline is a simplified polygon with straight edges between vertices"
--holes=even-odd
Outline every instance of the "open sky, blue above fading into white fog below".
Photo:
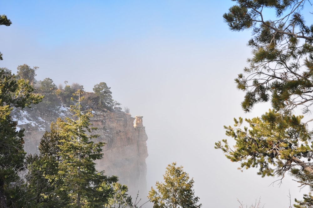
[{"label": "open sky, blue above fading into white fog below", "polygon": [[85,91],[107,83],[123,109],[143,116],[148,190],[162,181],[167,164],[177,162],[194,179],[204,208],[239,207],[237,200],[250,205],[259,198],[265,207],[288,208],[289,194],[293,203],[305,188],[288,176],[279,184],[257,169],[241,172],[240,164],[214,149],[234,117],[269,109],[241,109],[244,93],[234,79],[251,56],[251,31],[232,32],[223,22],[233,4],[0,0],[0,14],[12,21],[0,27],[0,67],[16,73],[18,65],[38,66],[36,80],[79,83]]}]

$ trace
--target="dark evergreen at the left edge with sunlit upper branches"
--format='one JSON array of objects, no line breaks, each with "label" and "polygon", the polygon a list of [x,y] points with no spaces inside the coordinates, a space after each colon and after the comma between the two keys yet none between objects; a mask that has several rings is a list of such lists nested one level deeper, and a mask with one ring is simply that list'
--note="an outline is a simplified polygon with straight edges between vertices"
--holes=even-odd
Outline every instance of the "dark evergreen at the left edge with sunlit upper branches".
[{"label": "dark evergreen at the left edge with sunlit upper branches", "polygon": [[19,204],[21,200],[17,185],[26,154],[23,150],[24,130],[17,130],[17,121],[12,120],[10,112],[13,107],[24,108],[40,102],[43,96],[32,94],[32,91],[24,80],[17,80],[9,70],[0,69],[0,205]]}]

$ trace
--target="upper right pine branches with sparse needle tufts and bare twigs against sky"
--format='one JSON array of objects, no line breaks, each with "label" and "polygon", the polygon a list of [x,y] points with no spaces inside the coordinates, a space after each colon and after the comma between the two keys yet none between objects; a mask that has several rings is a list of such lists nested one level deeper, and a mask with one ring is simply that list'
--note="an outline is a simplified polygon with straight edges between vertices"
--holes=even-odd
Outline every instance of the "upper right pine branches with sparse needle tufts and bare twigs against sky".
[{"label": "upper right pine branches with sparse needle tufts and bare twigs against sky", "polygon": [[[271,101],[275,110],[290,111],[312,104],[313,25],[305,25],[301,10],[309,1],[239,1],[223,15],[231,30],[253,30],[248,45],[245,75],[235,80],[246,92],[242,107],[249,112],[258,102]],[[266,20],[263,11],[274,9],[276,20]],[[285,15],[284,15],[285,14]],[[310,13],[308,15],[311,16]]]}]

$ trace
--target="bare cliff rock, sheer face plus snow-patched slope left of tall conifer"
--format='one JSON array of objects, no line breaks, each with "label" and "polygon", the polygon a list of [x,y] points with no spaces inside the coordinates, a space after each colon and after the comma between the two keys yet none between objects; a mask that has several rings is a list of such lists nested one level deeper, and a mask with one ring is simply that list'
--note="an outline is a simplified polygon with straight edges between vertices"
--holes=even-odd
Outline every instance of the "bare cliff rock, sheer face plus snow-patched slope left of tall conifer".
[{"label": "bare cliff rock, sheer face plus snow-patched slope left of tall conifer", "polygon": [[[25,128],[24,149],[27,153],[39,153],[38,145],[45,131],[50,130],[51,122],[58,117],[70,117],[69,107],[60,105],[44,113],[34,107],[24,111],[13,111],[12,117],[18,121],[19,128]],[[97,160],[96,168],[105,170],[105,175],[117,175],[120,183],[129,188],[129,193],[146,196],[146,158],[147,135],[142,116],[114,110],[93,112],[91,119],[94,133],[100,137],[95,142],[105,142],[104,157]]]}]

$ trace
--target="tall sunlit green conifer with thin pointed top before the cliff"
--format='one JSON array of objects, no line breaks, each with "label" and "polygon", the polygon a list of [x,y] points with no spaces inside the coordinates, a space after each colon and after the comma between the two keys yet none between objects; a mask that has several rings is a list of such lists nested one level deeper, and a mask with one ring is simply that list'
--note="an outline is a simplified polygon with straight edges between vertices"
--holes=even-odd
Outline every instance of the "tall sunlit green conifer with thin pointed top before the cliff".
[{"label": "tall sunlit green conifer with thin pointed top before the cliff", "polygon": [[94,203],[97,197],[94,188],[105,179],[104,175],[96,171],[94,162],[103,157],[101,147],[104,143],[94,143],[91,139],[98,135],[87,134],[93,129],[90,127],[92,114],[90,111],[81,111],[81,93],[77,92],[79,100],[71,106],[74,119],[67,117],[66,122],[60,124],[62,145],[58,146],[59,156],[62,158],[58,175],[64,181],[64,189],[67,190],[71,198],[70,205],[73,207],[87,207]]}]

